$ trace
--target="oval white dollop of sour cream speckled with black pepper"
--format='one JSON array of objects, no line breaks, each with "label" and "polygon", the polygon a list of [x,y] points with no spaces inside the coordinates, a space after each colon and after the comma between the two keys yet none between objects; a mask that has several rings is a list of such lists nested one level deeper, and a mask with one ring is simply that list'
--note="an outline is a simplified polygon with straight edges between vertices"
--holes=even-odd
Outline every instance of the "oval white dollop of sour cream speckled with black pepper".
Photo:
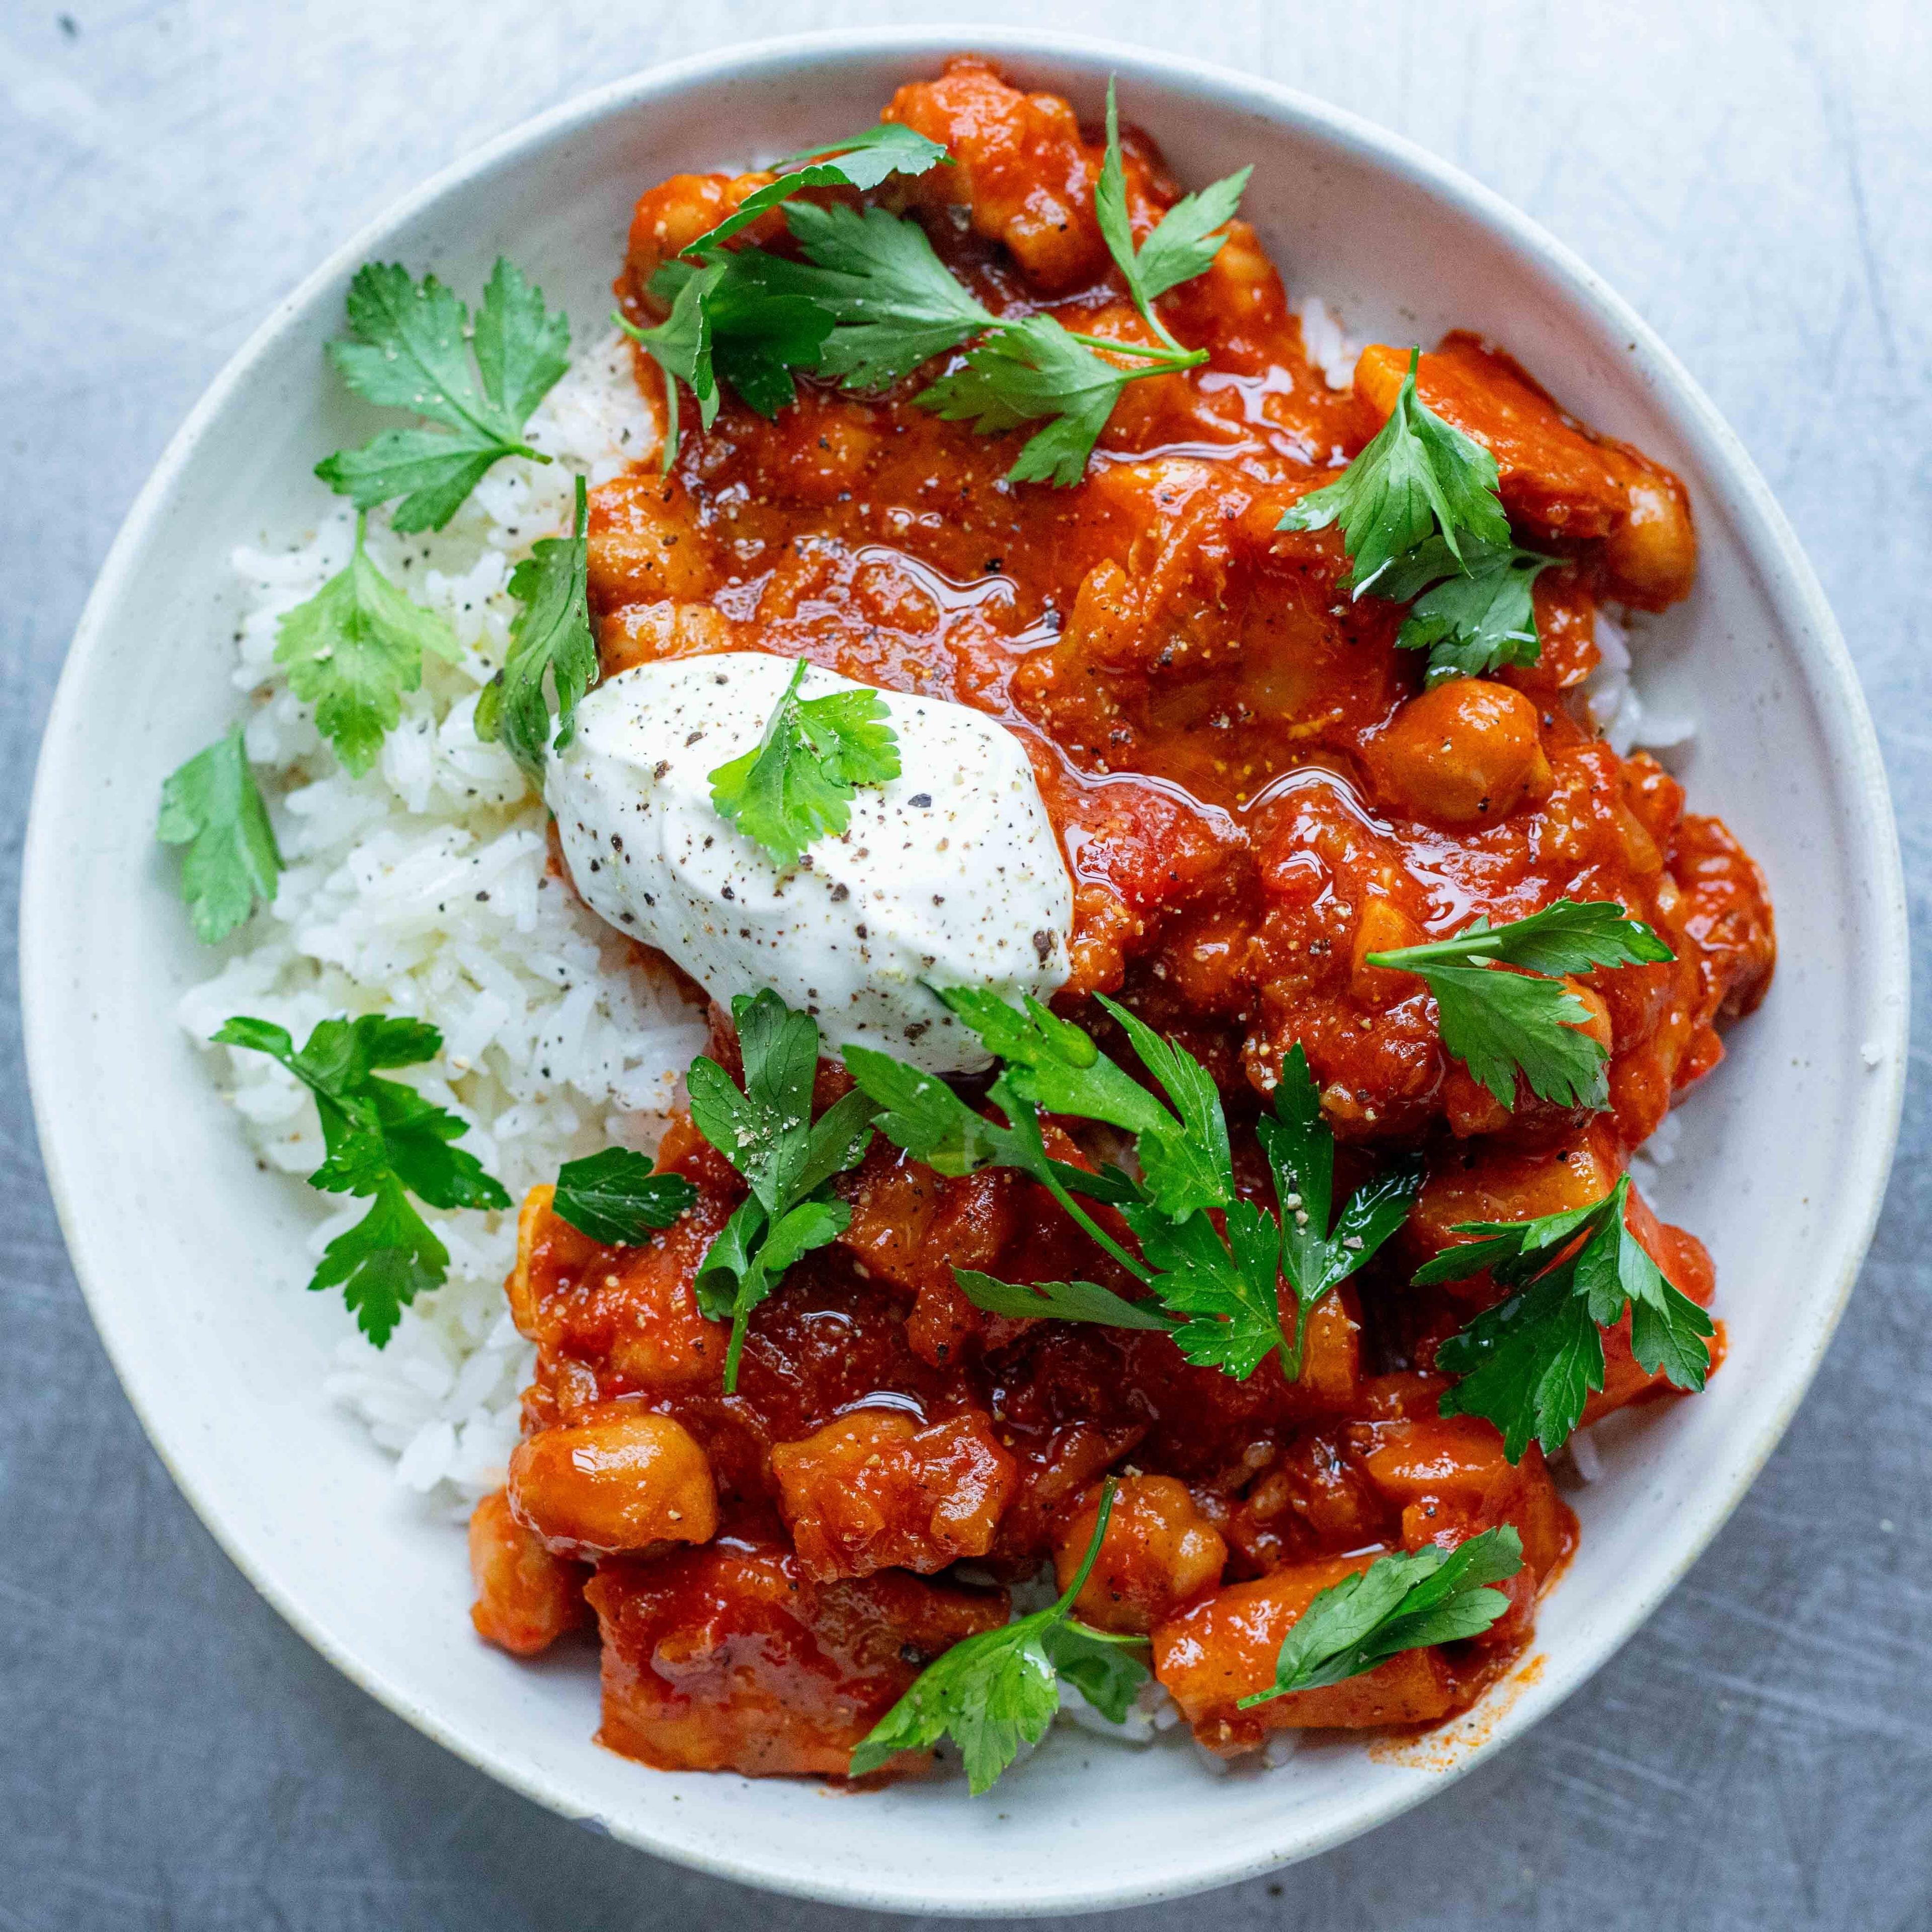
[{"label": "oval white dollop of sour cream speckled with black pepper", "polygon": [[[769,985],[827,1051],[983,1068],[931,987],[1045,999],[1068,972],[1072,883],[1026,752],[966,705],[881,692],[900,775],[858,786],[846,831],[781,867],[717,813],[711,773],[757,746],[790,676],[788,659],[726,651],[599,684],[545,782],[570,875],[721,1005]],[[813,667],[800,697],[860,688]]]}]

